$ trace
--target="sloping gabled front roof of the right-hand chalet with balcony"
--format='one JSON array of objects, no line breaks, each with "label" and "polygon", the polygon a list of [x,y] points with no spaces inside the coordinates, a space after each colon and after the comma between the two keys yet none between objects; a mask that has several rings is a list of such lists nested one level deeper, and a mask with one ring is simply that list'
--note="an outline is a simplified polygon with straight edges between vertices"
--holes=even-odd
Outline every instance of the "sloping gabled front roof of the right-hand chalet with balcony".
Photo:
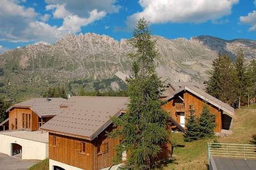
[{"label": "sloping gabled front roof of the right-hand chalet with balcony", "polygon": [[179,92],[187,90],[191,92],[192,94],[198,96],[199,98],[205,100],[206,102],[212,104],[213,106],[216,106],[220,108],[222,111],[227,113],[229,116],[233,117],[235,115],[235,109],[231,106],[229,106],[226,103],[223,103],[221,100],[207,94],[205,91],[198,89],[194,86],[185,86],[183,88],[180,88],[174,92],[174,94],[170,95],[169,97],[166,97],[165,100],[169,100],[173,98],[175,95],[179,94]]}]

